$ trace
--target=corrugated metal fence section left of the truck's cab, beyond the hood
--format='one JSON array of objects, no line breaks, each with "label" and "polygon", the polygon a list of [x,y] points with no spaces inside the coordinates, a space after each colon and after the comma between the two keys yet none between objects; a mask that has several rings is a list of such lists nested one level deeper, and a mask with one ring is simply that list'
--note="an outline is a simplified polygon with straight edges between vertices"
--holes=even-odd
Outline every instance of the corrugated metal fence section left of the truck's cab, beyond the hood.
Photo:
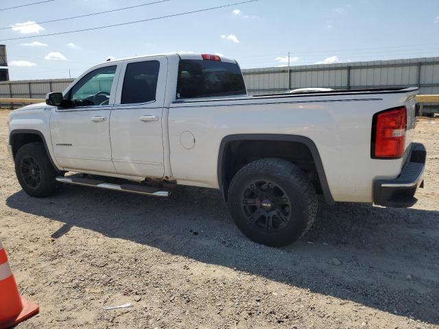
[{"label": "corrugated metal fence section left of the truck's cab, beyond the hood", "polygon": [[0,98],[45,98],[52,91],[64,91],[73,79],[0,82]]}]

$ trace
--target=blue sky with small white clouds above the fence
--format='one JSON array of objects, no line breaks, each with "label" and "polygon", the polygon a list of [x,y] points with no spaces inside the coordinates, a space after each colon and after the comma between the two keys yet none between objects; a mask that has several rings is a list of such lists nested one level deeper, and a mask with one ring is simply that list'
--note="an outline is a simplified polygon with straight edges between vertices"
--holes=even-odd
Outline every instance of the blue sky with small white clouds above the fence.
[{"label": "blue sky with small white clouds above the fence", "polygon": [[[10,80],[78,77],[108,58],[151,53],[220,54],[243,69],[285,66],[288,53],[292,66],[439,56],[439,0],[259,0],[55,36],[44,35],[245,0],[51,0],[7,9],[40,1],[0,1]],[[41,23],[56,19],[67,20]]]}]

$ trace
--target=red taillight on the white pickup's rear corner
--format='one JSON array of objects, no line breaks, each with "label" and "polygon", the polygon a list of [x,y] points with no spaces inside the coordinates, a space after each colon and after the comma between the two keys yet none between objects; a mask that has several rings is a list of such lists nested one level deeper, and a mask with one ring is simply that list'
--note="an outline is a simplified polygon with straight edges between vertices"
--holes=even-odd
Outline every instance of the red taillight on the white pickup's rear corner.
[{"label": "red taillight on the white pickup's rear corner", "polygon": [[401,158],[404,153],[407,114],[405,106],[375,114],[372,121],[372,158]]}]

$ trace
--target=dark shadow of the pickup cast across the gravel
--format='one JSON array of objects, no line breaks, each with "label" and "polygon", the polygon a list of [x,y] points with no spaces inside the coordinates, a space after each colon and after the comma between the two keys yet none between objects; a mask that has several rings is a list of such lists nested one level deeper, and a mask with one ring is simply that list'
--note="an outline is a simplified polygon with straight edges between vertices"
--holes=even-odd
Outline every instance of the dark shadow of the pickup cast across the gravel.
[{"label": "dark shadow of the pickup cast across the gravel", "polygon": [[439,212],[364,204],[320,206],[311,231],[274,249],[248,241],[219,192],[179,186],[156,199],[64,186],[47,199],[23,191],[11,208],[163,252],[439,324]]}]

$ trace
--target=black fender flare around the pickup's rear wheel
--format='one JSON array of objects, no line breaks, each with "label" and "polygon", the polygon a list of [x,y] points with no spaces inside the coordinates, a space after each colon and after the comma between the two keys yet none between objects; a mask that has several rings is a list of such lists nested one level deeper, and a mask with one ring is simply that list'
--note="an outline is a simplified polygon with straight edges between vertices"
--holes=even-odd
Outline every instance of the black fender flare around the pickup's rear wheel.
[{"label": "black fender flare around the pickup's rear wheel", "polygon": [[264,142],[287,142],[295,143],[296,145],[303,145],[309,150],[312,156],[313,164],[316,168],[316,173],[318,174],[318,180],[322,189],[322,194],[324,199],[328,204],[333,204],[334,199],[331,195],[331,190],[329,189],[329,184],[327,181],[326,174],[324,172],[322,159],[318,152],[316,144],[311,141],[310,138],[300,135],[286,135],[286,134],[233,134],[225,136],[220,145],[218,152],[218,162],[217,162],[217,179],[219,185],[219,191],[222,193],[224,201],[228,199],[228,187],[230,186],[230,181],[232,180],[234,173],[230,175],[228,168],[228,161],[230,160],[230,145],[236,142],[250,142],[250,141],[264,141]]}]

